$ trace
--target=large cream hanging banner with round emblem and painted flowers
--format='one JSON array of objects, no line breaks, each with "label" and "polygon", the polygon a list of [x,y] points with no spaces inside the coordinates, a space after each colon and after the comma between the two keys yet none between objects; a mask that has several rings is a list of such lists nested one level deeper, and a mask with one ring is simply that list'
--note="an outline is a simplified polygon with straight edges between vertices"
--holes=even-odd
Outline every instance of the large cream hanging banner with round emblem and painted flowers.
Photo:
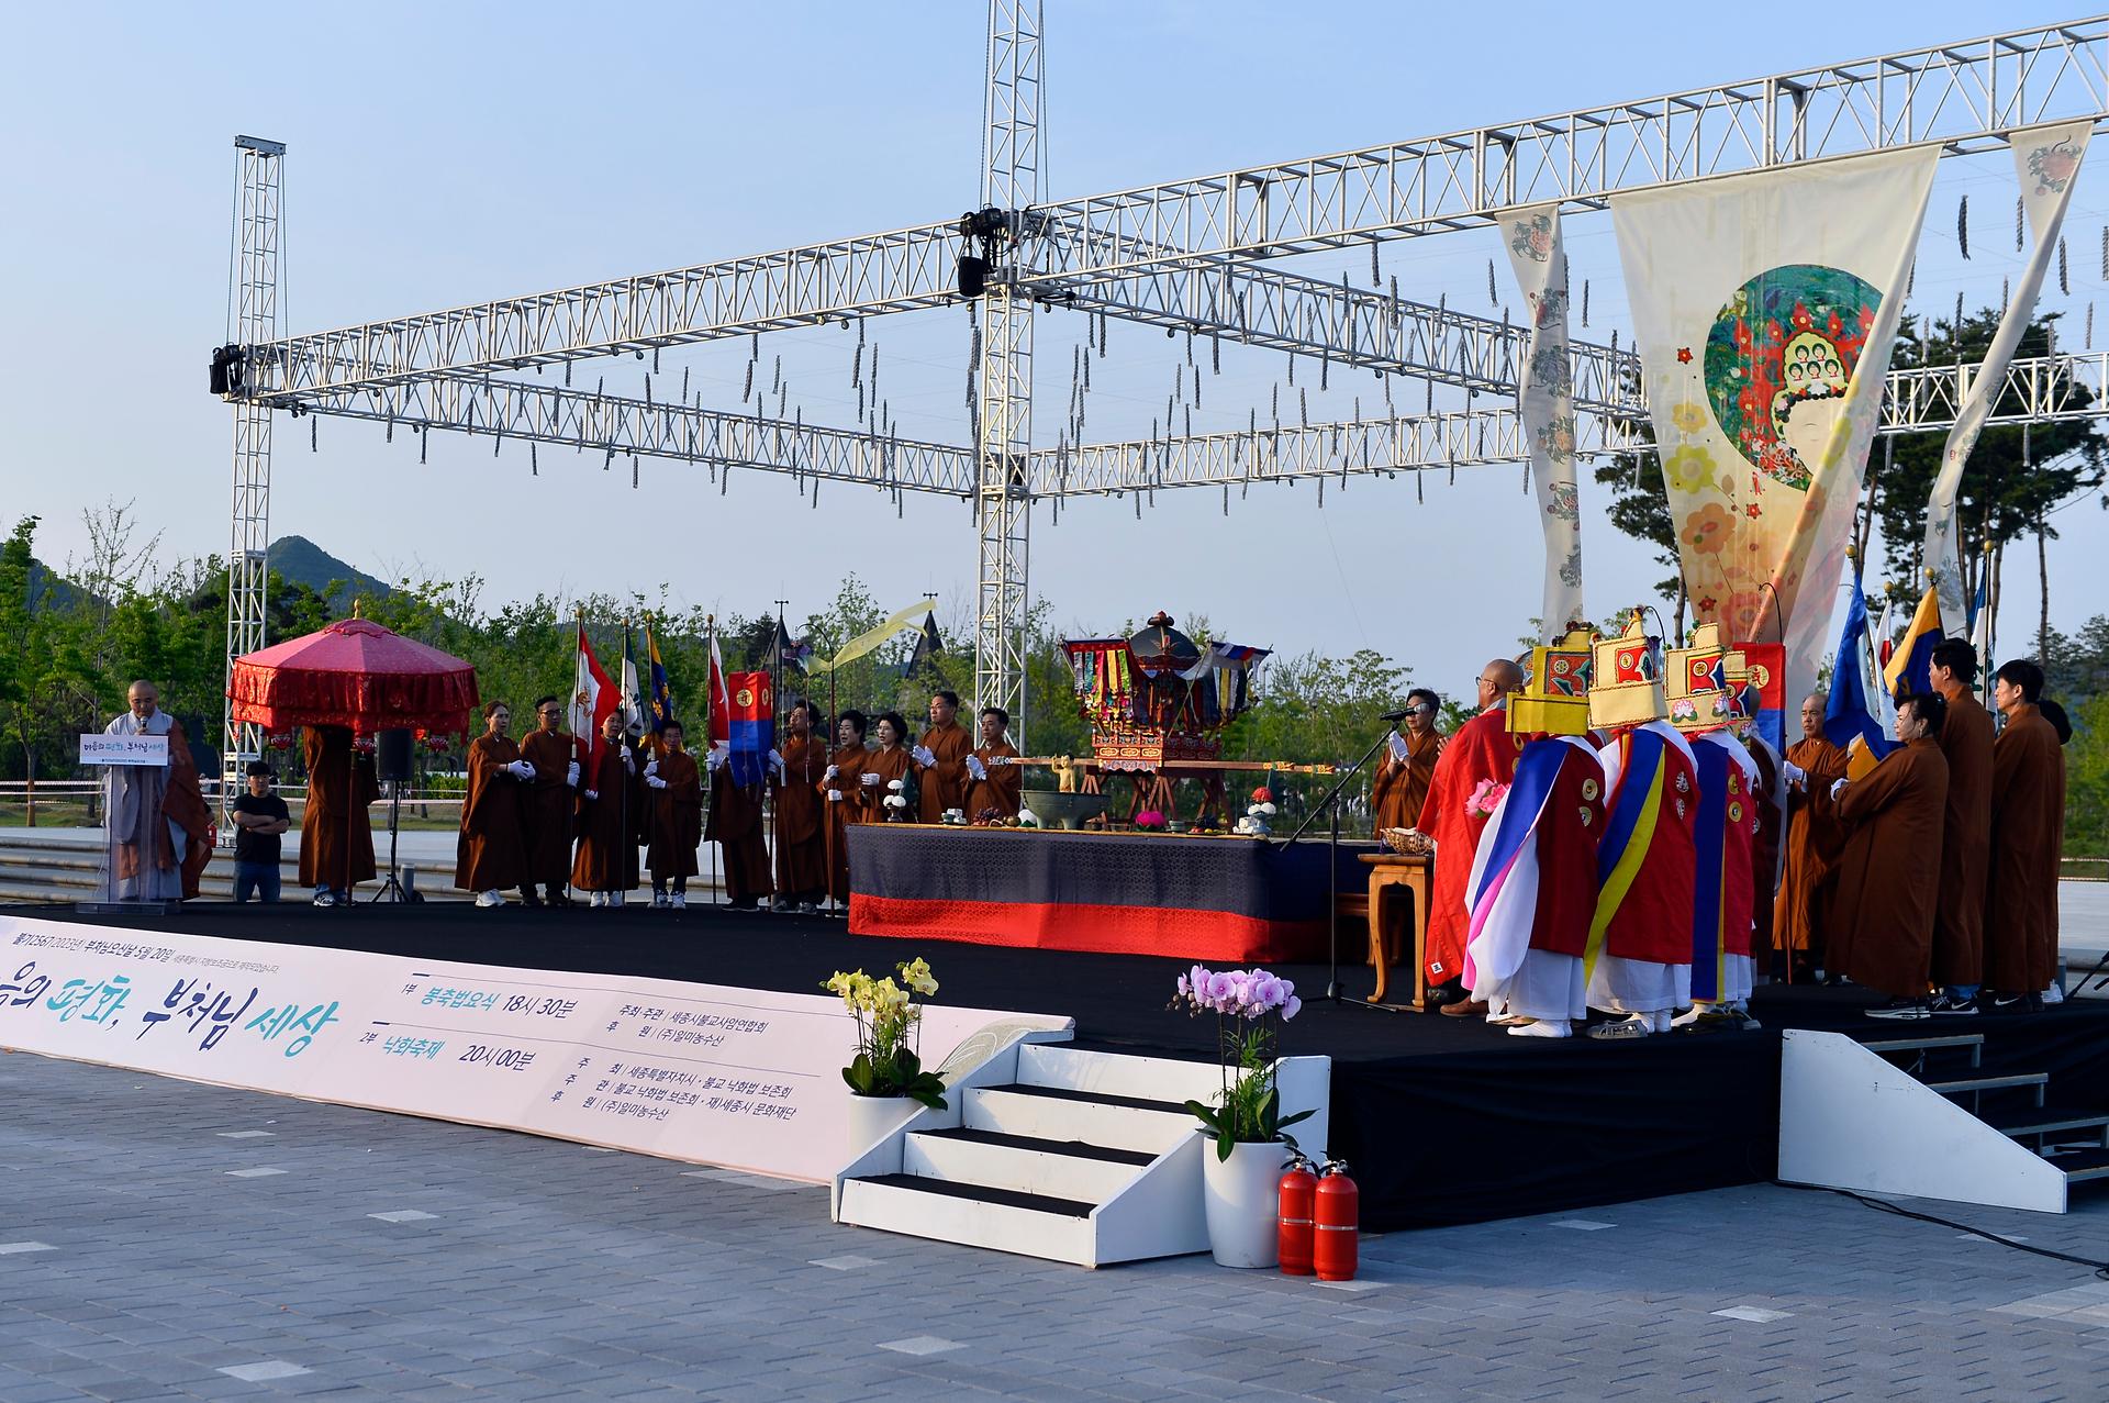
[{"label": "large cream hanging banner with round emblem and painted flowers", "polygon": [[1784,641],[1788,696],[1816,684],[1936,160],[1611,200],[1694,616]]}]

